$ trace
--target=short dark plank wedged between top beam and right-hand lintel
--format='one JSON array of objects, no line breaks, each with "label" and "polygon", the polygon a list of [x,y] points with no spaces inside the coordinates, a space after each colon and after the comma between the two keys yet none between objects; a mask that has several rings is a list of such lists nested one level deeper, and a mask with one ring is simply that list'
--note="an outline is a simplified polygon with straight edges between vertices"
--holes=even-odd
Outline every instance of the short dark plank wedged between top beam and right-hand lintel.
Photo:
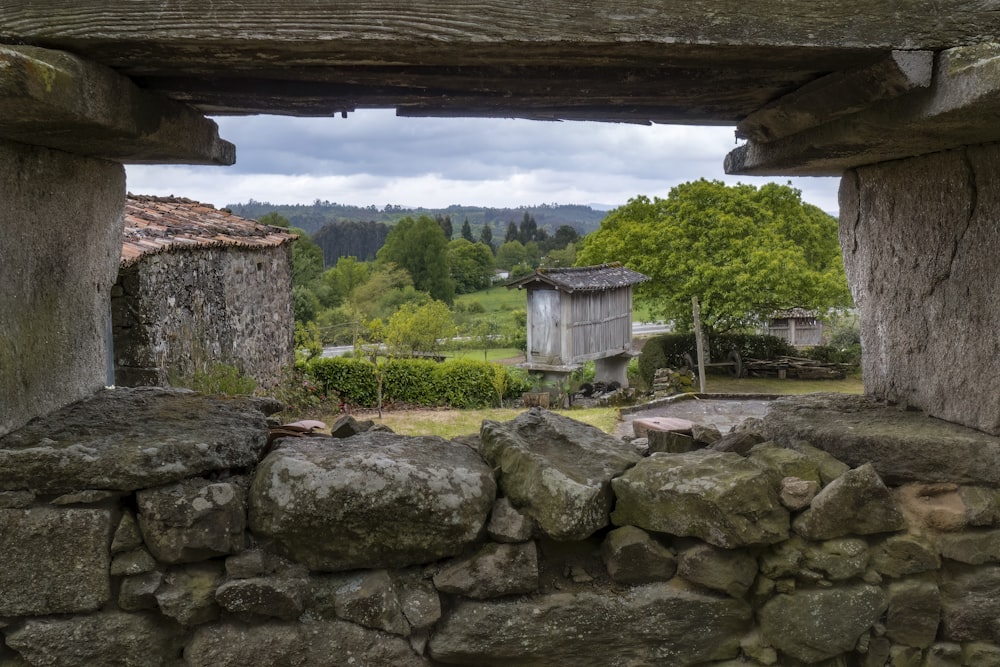
[{"label": "short dark plank wedged between top beam and right-hand lintel", "polygon": [[834,72],[808,83],[737,123],[745,138],[766,143],[833,119],[848,116],[882,100],[931,85],[934,53],[893,51],[867,67]]}]

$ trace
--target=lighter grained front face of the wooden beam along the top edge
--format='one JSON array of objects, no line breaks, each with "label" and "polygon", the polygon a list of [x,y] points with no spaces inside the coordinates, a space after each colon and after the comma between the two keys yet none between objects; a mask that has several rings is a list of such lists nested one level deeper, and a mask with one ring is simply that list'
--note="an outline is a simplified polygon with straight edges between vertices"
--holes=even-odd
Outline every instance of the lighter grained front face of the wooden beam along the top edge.
[{"label": "lighter grained front face of the wooden beam along the top edge", "polygon": [[145,48],[294,44],[300,53],[365,42],[412,42],[421,52],[532,42],[935,49],[1000,38],[998,11],[989,0],[20,0],[5,3],[0,35]]}]

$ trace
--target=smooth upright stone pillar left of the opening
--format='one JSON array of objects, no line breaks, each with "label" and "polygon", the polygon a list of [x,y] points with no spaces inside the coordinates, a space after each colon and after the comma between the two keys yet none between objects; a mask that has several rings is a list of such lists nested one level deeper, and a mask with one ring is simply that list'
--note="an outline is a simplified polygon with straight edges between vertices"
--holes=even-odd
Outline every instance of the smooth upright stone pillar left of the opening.
[{"label": "smooth upright stone pillar left of the opening", "polygon": [[0,435],[107,382],[120,164],[0,140]]}]

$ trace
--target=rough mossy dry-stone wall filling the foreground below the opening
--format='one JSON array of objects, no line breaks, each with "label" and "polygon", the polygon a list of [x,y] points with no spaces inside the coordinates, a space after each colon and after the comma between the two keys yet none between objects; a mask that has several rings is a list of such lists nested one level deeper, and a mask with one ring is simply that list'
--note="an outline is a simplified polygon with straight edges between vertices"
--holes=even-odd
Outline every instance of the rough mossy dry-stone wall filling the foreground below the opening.
[{"label": "rough mossy dry-stone wall filling the foreground below the opening", "polygon": [[651,454],[274,408],[115,389],[0,439],[0,665],[1000,664],[995,437],[838,395]]}]

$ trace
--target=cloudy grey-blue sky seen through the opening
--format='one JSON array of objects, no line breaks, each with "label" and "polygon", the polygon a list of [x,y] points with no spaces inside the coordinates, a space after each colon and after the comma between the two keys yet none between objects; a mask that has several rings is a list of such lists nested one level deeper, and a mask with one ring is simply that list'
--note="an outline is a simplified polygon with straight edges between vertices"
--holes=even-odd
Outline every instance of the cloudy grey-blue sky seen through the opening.
[{"label": "cloudy grey-blue sky seen through the opening", "polygon": [[805,201],[837,212],[835,178],[750,178],[723,173],[732,128],[398,118],[365,110],[346,119],[216,119],[236,144],[232,167],[128,167],[135,194],[214,204],[386,204],[440,208],[591,204],[665,197],[698,178],[756,185],[792,181]]}]

